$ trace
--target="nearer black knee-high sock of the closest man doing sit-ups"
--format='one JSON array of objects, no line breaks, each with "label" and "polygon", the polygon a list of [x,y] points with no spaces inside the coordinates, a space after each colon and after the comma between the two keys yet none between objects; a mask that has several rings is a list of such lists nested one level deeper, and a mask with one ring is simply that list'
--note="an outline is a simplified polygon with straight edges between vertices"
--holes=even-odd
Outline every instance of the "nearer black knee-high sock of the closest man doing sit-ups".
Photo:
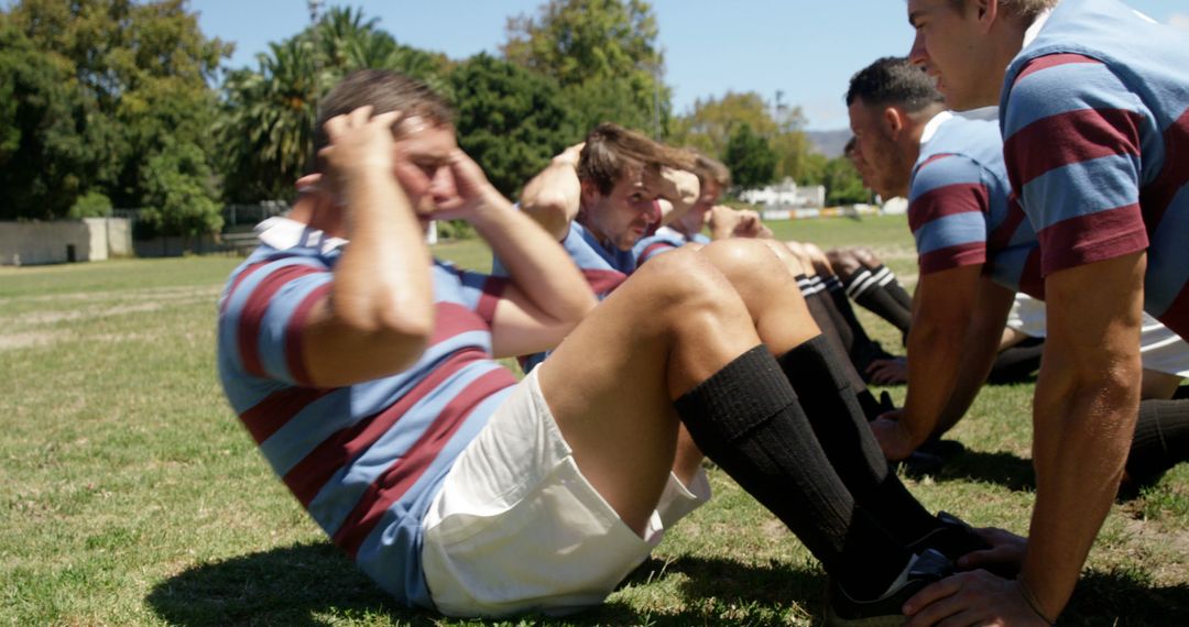
[{"label": "nearer black knee-high sock of the closest man doing sit-ups", "polygon": [[850,595],[874,598],[904,570],[908,550],[847,490],[763,346],[674,407],[698,448],[785,522]]}]

